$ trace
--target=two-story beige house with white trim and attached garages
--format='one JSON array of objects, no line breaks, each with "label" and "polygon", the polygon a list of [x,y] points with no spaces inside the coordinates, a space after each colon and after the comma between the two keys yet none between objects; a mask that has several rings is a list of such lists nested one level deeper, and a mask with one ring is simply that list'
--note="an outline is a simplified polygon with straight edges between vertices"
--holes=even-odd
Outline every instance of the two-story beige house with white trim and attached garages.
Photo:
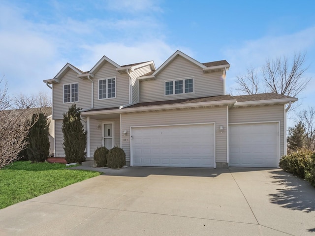
[{"label": "two-story beige house with white trim and attached garages", "polygon": [[64,156],[63,113],[82,109],[87,160],[119,146],[130,166],[278,167],[286,154],[286,112],[297,98],[225,94],[226,60],[200,63],[177,51],[120,66],[103,57],[88,72],[67,63],[44,80],[53,92],[55,156]]}]

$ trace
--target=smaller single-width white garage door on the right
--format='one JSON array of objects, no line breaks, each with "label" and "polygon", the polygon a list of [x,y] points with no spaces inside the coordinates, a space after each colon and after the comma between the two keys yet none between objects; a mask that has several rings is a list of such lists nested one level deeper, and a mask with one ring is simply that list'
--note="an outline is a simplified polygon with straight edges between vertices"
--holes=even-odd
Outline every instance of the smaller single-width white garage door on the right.
[{"label": "smaller single-width white garage door on the right", "polygon": [[229,125],[229,166],[278,167],[279,123]]}]

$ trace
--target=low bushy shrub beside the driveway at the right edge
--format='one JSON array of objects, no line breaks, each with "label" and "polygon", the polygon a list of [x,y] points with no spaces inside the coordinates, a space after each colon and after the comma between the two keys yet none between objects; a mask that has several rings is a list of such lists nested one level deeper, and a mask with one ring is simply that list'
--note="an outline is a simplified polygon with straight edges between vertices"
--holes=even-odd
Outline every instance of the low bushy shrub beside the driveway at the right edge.
[{"label": "low bushy shrub beside the driveway at the right edge", "polygon": [[310,150],[300,149],[299,151],[283,156],[279,166],[284,171],[291,173],[294,176],[305,178],[305,167],[312,154],[313,152]]}]

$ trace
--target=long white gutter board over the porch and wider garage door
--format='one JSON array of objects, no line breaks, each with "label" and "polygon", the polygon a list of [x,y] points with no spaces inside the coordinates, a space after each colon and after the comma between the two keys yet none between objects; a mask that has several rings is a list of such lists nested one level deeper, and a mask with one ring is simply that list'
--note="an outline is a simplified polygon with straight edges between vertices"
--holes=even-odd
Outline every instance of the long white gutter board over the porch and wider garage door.
[{"label": "long white gutter board over the porch and wider garage door", "polygon": [[145,112],[145,111],[156,111],[156,110],[172,110],[172,109],[182,109],[182,108],[196,108],[205,106],[219,106],[219,105],[229,105],[236,102],[233,100],[223,100],[223,101],[211,101],[211,102],[196,102],[196,103],[185,103],[185,104],[170,104],[170,105],[156,105],[156,106],[145,106],[145,107],[135,107],[135,108],[125,108],[125,109],[115,109],[115,110],[105,110],[105,111],[87,111],[82,112],[84,116],[92,115],[102,115],[102,114],[115,114],[115,113],[128,113],[128,112]]}]

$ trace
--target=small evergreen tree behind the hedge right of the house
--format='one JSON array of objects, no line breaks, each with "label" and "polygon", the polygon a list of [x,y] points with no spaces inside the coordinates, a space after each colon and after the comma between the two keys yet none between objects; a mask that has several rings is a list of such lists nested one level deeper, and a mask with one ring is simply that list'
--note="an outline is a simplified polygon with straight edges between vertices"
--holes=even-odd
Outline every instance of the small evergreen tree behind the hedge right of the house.
[{"label": "small evergreen tree behind the hedge right of the house", "polygon": [[302,121],[295,124],[294,127],[289,128],[289,135],[287,137],[287,146],[290,151],[297,151],[305,147],[305,129]]}]

